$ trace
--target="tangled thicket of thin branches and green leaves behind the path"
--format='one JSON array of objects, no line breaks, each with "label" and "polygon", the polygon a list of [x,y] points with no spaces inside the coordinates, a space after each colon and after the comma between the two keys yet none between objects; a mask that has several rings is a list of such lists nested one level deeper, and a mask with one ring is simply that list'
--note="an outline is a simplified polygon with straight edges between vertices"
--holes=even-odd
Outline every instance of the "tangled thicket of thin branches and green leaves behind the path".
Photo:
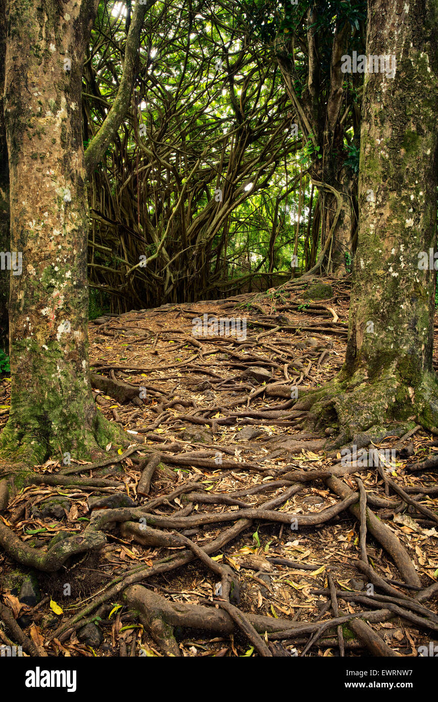
[{"label": "tangled thicket of thin branches and green leaves behind the path", "polygon": [[[89,188],[91,317],[267,289],[310,270],[336,209],[312,177],[332,162],[355,211],[363,75],[336,86],[335,143],[326,110],[336,27],[344,22],[345,46],[360,51],[366,5],[319,4],[313,37],[309,3],[291,3],[291,15],[283,5],[166,0],[147,11],[131,105]],[[126,5],[100,4],[84,68],[84,147],[117,95],[128,25]],[[294,95],[311,94],[312,133],[296,119],[279,36],[291,37]]]}]

